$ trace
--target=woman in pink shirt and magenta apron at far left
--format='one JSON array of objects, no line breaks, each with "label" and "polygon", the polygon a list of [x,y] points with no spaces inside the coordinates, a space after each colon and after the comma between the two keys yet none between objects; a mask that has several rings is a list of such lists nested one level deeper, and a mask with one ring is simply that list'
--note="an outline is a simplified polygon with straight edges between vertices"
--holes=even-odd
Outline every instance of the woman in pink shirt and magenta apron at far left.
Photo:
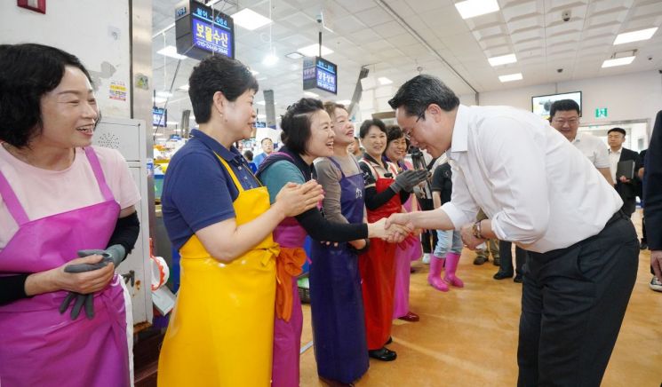
[{"label": "woman in pink shirt and magenta apron at far left", "polygon": [[75,56],[0,46],[4,387],[131,384],[131,305],[114,267],[138,236],[140,194],[118,152],[91,146],[98,118]]}]

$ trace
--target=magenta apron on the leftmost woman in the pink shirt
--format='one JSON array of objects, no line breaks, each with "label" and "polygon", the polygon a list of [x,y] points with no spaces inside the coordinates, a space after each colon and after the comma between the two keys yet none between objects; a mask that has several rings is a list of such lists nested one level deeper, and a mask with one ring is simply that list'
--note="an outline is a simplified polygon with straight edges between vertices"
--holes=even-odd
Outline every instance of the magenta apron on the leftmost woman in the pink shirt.
[{"label": "magenta apron on the leftmost woman in the pink shirt", "polygon": [[[0,251],[0,275],[44,272],[76,258],[80,249],[106,249],[119,204],[92,147],[84,148],[104,201],[40,219],[28,219],[0,172],[0,194],[19,230]],[[47,193],[44,193],[47,194]],[[129,348],[124,293],[115,274],[94,295],[94,318],[60,314],[67,291],[0,306],[0,377],[13,386],[127,386]]]}]

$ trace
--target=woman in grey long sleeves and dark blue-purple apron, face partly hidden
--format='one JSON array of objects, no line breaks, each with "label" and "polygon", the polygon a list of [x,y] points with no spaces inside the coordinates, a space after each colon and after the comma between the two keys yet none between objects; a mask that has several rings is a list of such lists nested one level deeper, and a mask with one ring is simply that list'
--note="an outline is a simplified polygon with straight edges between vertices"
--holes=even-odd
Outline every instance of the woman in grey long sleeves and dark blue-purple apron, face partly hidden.
[{"label": "woman in grey long sleeves and dark blue-purple apron, face partly hidden", "polygon": [[[325,193],[324,216],[332,222],[363,223],[363,174],[347,152],[354,140],[354,126],[342,105],[327,102],[324,107],[335,133],[333,156],[315,162]],[[313,243],[311,251],[310,306],[317,374],[338,384],[355,382],[369,367],[357,254],[357,249],[365,248],[361,242]]]}]

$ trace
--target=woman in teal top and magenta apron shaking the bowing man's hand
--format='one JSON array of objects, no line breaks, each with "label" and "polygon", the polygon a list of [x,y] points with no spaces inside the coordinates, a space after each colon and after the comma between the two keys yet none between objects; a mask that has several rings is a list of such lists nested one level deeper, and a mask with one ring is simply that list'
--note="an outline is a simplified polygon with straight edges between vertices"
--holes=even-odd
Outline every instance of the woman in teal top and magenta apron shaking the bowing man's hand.
[{"label": "woman in teal top and magenta apron shaking the bowing man's hand", "polygon": [[[258,177],[267,186],[272,201],[288,182],[300,184],[313,178],[315,172],[312,163],[315,158],[330,156],[333,152],[331,118],[317,99],[300,99],[288,107],[281,128],[284,146],[260,163],[258,170]],[[309,209],[297,217],[287,218],[278,225],[274,240],[281,245],[285,254],[276,258],[276,271],[279,273],[277,280],[284,282],[285,286],[276,289],[272,385],[299,386],[303,315],[294,278],[299,275],[304,264],[300,250],[306,234],[315,241],[346,242],[368,237],[387,238],[395,233],[391,231],[387,234],[383,225],[383,222],[371,225],[335,224],[324,219],[317,209]],[[398,231],[401,233],[396,233],[394,238],[401,240],[406,233]],[[279,296],[278,292],[286,294]],[[279,299],[283,300],[282,304],[278,302]]]}]

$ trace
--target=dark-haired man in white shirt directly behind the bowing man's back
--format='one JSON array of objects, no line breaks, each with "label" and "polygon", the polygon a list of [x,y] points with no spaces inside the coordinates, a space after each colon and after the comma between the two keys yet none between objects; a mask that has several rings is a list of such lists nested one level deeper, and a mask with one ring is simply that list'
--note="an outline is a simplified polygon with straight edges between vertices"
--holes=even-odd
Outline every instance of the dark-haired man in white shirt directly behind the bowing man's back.
[{"label": "dark-haired man in white shirt directly behind the bowing man's back", "polygon": [[579,129],[579,105],[572,99],[559,99],[554,101],[549,109],[549,123],[555,130],[559,130],[565,138],[568,138],[573,146],[576,146],[582,154],[593,162],[597,170],[607,179],[611,186],[614,180],[611,178],[610,159],[607,146],[600,138],[586,132],[578,132]]}]

